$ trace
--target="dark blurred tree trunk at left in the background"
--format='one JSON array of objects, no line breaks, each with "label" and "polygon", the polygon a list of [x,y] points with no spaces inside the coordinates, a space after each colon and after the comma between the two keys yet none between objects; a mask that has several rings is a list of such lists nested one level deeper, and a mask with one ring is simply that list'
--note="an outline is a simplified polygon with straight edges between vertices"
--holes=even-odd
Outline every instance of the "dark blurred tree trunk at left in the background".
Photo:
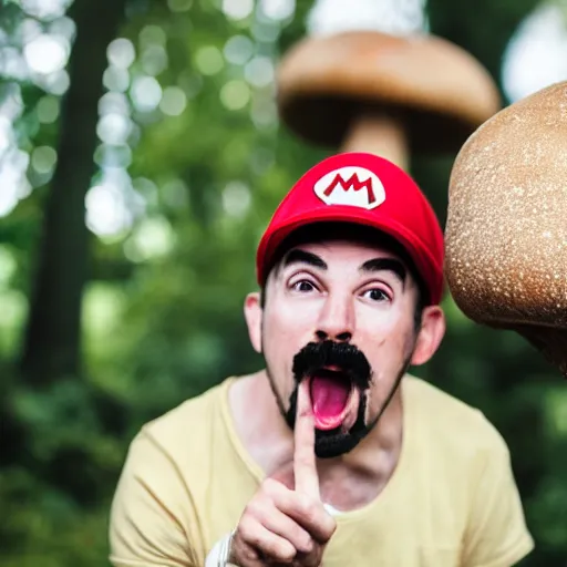
[{"label": "dark blurred tree trunk at left in the background", "polygon": [[32,384],[81,373],[81,309],[90,236],[84,197],[93,173],[99,100],[106,48],[124,17],[125,0],[75,0],[69,16],[76,39],[71,85],[62,101],[58,165],[45,212],[20,370]]}]

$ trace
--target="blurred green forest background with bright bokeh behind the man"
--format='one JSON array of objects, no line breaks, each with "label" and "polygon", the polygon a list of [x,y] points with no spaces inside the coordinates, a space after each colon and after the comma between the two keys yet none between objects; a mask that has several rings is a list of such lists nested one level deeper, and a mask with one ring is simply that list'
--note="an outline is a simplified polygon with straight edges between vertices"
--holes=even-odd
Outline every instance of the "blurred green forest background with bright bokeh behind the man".
[{"label": "blurred green forest background with bright bokeh behind the man", "polygon": [[[476,56],[505,104],[567,78],[560,0],[410,4],[3,1],[3,567],[107,565],[110,501],[138,427],[261,363],[241,315],[256,245],[330,152],[278,120],[274,76],[290,45],[341,25],[399,31],[405,10],[406,27]],[[443,223],[453,158],[412,156]],[[415,372],[496,424],[537,543],[525,565],[565,567],[567,384],[515,333],[445,307],[446,340]]]}]

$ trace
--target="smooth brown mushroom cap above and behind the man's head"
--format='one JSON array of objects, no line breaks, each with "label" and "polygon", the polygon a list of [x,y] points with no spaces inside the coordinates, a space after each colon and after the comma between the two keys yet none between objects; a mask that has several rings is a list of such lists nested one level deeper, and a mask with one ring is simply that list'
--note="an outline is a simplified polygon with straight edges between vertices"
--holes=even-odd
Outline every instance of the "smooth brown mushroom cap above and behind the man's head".
[{"label": "smooth brown mushroom cap above and behind the man's head", "polygon": [[400,115],[410,151],[457,151],[501,109],[488,72],[432,35],[350,31],[296,44],[277,73],[281,120],[300,137],[339,146],[362,112]]}]

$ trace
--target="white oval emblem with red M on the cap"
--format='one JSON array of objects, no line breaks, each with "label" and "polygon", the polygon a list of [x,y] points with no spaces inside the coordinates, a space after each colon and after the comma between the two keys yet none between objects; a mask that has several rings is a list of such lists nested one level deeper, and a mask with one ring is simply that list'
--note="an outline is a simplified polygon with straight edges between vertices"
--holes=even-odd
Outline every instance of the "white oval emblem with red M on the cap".
[{"label": "white oval emblem with red M on the cap", "polygon": [[315,184],[313,190],[327,205],[350,205],[370,210],[385,200],[382,182],[365,167],[333,169]]}]

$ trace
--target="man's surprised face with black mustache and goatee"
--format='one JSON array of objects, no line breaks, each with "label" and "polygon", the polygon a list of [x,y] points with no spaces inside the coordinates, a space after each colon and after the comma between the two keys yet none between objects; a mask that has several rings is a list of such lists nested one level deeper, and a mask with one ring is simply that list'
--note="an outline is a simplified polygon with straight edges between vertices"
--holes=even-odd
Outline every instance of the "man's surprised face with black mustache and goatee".
[{"label": "man's surprised face with black mustache and goatee", "polygon": [[348,240],[291,248],[272,270],[261,351],[290,426],[310,380],[316,453],[351,451],[374,426],[405,372],[417,332],[417,288],[385,248]]}]

